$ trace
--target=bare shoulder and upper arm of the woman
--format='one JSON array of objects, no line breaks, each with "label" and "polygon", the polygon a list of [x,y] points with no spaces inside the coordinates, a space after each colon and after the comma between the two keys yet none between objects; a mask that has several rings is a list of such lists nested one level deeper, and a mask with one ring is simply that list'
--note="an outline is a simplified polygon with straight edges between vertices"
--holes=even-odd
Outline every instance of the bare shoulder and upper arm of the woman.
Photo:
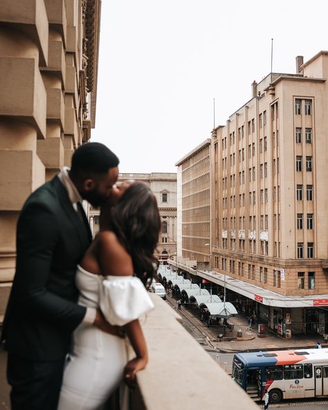
[{"label": "bare shoulder and upper arm of the woman", "polygon": [[113,231],[99,233],[98,244],[102,274],[125,276],[134,273],[132,258]]}]

